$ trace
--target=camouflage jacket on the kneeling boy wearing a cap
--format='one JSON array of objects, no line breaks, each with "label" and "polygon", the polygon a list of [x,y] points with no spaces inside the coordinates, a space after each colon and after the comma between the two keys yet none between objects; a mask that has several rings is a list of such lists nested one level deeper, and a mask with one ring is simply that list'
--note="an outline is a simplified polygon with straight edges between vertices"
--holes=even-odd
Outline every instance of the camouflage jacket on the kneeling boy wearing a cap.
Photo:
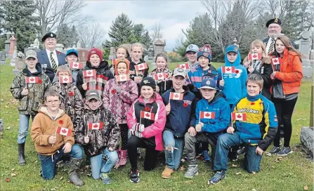
[{"label": "camouflage jacket on the kneeling boy wearing a cap", "polygon": [[[117,150],[120,139],[120,129],[116,121],[116,117],[110,110],[105,110],[103,105],[97,110],[91,110],[88,105],[84,105],[85,110],[81,118],[77,131],[75,133],[75,141],[86,148],[86,154],[91,157],[103,153],[105,147]],[[91,130],[89,124],[103,123],[103,129]],[[84,143],[84,137],[89,136],[89,143]]]}]

